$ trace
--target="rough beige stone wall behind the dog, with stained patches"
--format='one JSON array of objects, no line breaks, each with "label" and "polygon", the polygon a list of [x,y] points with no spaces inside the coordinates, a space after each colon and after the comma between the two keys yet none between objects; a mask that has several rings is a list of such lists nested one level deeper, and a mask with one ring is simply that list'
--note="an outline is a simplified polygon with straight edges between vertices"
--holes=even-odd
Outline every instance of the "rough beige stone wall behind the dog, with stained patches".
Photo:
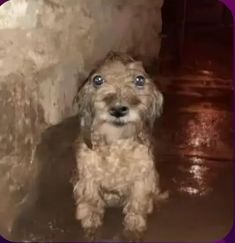
[{"label": "rough beige stone wall behind the dog, with stained patches", "polygon": [[0,233],[11,230],[33,185],[41,132],[76,113],[73,97],[95,63],[110,50],[145,63],[157,58],[162,3],[10,0],[0,7]]}]

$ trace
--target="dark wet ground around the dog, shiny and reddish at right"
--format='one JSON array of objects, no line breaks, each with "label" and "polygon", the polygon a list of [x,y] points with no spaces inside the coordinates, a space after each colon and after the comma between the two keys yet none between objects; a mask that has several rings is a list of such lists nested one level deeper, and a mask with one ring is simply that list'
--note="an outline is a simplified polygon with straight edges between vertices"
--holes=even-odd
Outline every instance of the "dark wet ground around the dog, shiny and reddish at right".
[{"label": "dark wet ground around the dog, shiny and reddish at right", "polygon": [[[156,163],[170,197],[149,217],[145,241],[219,240],[233,223],[231,43],[228,36],[196,37],[185,43],[181,68],[162,72],[168,81],[155,129]],[[45,131],[38,188],[15,223],[13,240],[84,240],[69,183],[78,132],[76,118]],[[121,219],[118,210],[107,211],[99,240],[117,240]]]}]

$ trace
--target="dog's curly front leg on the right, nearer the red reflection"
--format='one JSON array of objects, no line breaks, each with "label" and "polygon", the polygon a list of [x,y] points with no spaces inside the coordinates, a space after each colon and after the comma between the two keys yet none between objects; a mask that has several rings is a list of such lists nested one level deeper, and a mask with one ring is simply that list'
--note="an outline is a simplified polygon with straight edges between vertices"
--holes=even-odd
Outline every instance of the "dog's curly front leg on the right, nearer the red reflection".
[{"label": "dog's curly front leg on the right, nearer the red reflection", "polygon": [[155,181],[144,178],[136,181],[130,190],[127,204],[124,207],[124,234],[128,238],[141,240],[147,227],[147,215],[153,210],[153,191]]}]

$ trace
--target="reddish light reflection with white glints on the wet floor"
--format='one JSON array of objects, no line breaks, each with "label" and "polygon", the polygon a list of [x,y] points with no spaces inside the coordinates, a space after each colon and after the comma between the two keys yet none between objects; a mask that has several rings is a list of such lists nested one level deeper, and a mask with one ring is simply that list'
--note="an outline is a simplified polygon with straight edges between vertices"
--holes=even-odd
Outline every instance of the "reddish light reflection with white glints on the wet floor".
[{"label": "reddish light reflection with white glints on the wet floor", "polygon": [[[228,113],[221,110],[208,109],[194,113],[192,119],[184,123],[183,144],[184,155],[203,155],[209,158],[229,156],[229,141],[224,139],[225,131],[229,129],[224,123]],[[224,128],[223,128],[224,126]],[[225,130],[223,130],[225,129]],[[208,161],[200,156],[192,156],[188,164],[180,165],[184,175],[180,179],[177,191],[191,196],[204,196],[213,190],[213,179],[217,170],[213,170]],[[224,162],[222,162],[224,163]]]}]

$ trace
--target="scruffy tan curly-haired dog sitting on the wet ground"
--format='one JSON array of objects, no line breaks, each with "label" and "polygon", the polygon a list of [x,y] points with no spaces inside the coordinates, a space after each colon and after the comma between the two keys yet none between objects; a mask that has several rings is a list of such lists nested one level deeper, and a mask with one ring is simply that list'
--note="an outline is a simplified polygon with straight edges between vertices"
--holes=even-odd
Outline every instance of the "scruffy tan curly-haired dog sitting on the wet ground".
[{"label": "scruffy tan curly-haired dog sitting on the wet ground", "polygon": [[142,63],[109,55],[78,93],[76,218],[86,232],[102,225],[107,206],[122,206],[125,231],[142,233],[161,197],[151,129],[163,96]]}]

